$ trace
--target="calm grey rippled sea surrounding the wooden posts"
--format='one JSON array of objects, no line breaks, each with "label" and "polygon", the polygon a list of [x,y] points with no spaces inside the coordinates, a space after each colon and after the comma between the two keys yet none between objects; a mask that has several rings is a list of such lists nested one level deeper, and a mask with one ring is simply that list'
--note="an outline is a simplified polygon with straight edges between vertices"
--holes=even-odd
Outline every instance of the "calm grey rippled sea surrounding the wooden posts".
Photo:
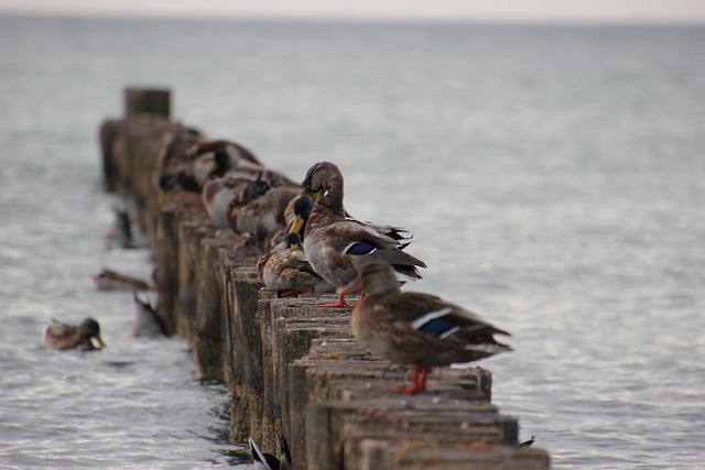
[{"label": "calm grey rippled sea surrounding the wooden posts", "polygon": [[[238,464],[227,395],[131,337],[147,250],[107,250],[97,132],[126,85],[358,218],[513,334],[494,402],[561,469],[705,466],[705,28],[0,17],[0,468]],[[108,348],[40,348],[95,316]]]}]

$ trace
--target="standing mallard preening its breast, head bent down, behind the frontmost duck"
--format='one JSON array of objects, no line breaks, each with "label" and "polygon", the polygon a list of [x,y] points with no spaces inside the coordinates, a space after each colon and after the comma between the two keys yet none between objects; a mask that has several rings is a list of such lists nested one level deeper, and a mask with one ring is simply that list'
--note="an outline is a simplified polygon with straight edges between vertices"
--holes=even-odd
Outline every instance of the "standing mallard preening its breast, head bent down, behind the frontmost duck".
[{"label": "standing mallard preening its breast, head bent down, behind the frontmost duck", "polygon": [[[319,162],[308,168],[302,185],[316,204],[311,211],[304,232],[304,252],[316,273],[330,284],[341,286],[355,280],[357,267],[368,261],[389,262],[405,280],[419,280],[416,267],[426,264],[402,251],[408,243],[382,231],[378,226],[346,217],[343,206],[343,174],[330,162]],[[293,231],[300,229],[295,223]],[[336,304],[326,307],[346,307],[345,294]]]}]

